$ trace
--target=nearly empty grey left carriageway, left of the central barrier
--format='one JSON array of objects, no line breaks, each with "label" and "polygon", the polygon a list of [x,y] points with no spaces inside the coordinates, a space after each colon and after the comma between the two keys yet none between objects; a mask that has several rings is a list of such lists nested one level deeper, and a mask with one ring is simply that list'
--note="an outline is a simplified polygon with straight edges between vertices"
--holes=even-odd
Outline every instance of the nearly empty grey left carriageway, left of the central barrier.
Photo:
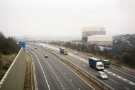
[{"label": "nearly empty grey left carriageway, left of the central barrier", "polygon": [[59,58],[42,47],[29,45],[27,51],[31,53],[35,65],[38,90],[93,90]]}]

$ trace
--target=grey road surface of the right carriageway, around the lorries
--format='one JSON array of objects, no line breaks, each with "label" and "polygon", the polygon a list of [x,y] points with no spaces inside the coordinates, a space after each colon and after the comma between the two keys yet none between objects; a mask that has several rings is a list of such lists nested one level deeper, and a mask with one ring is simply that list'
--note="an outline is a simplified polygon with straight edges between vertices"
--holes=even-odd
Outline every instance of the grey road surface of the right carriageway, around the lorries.
[{"label": "grey road surface of the right carriageway, around the lorries", "polygon": [[[87,71],[89,74],[97,76],[97,71],[89,67],[88,61],[85,56],[85,58],[82,58],[80,57],[81,55],[74,55],[71,52],[69,52],[69,55],[64,56],[60,55],[57,49],[52,49],[53,52],[59,55],[61,58],[64,58],[76,64],[83,70]],[[102,80],[102,82],[111,86],[114,90],[135,90],[135,77],[133,73],[130,74],[129,71],[123,69],[121,70],[120,68],[117,68],[115,66],[111,66],[111,68],[105,69],[105,72],[108,74],[109,79]]]}]

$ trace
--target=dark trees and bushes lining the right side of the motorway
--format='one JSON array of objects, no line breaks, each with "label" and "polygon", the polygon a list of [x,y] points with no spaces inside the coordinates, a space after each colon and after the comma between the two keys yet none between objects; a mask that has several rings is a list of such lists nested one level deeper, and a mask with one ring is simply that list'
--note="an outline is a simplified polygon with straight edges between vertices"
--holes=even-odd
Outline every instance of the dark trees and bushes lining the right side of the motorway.
[{"label": "dark trees and bushes lining the right side of the motorway", "polygon": [[98,56],[118,60],[119,62],[135,68],[135,35],[119,35],[113,40],[112,49],[101,51],[95,44],[72,42],[51,42],[51,44],[76,49],[78,51],[93,53]]}]

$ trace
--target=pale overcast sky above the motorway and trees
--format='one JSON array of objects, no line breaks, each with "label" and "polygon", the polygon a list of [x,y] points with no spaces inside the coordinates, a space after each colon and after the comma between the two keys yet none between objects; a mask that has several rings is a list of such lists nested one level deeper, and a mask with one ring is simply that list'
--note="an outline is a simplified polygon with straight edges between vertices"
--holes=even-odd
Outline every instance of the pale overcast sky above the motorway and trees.
[{"label": "pale overcast sky above the motorway and trees", "polygon": [[0,0],[0,31],[8,36],[78,38],[93,26],[135,33],[135,0]]}]

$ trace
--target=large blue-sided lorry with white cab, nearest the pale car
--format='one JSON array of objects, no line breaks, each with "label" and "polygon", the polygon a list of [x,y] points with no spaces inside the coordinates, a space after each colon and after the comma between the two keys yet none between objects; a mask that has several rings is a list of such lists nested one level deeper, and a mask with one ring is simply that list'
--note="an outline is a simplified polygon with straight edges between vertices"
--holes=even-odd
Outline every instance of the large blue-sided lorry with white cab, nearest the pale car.
[{"label": "large blue-sided lorry with white cab, nearest the pale car", "polygon": [[90,57],[89,59],[89,66],[98,70],[98,71],[102,71],[104,70],[104,64],[100,59],[97,59],[95,57]]}]

